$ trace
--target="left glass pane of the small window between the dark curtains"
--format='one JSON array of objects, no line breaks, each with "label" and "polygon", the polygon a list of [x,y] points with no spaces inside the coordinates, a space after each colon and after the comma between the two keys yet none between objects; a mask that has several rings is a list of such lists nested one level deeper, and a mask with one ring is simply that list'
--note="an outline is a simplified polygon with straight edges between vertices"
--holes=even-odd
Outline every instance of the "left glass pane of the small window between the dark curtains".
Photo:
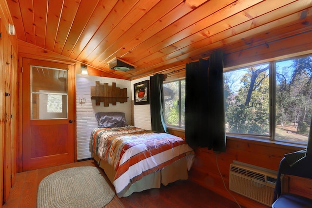
[{"label": "left glass pane of the small window between the dark curtains", "polygon": [[166,124],[179,126],[179,81],[164,83],[163,92]]}]

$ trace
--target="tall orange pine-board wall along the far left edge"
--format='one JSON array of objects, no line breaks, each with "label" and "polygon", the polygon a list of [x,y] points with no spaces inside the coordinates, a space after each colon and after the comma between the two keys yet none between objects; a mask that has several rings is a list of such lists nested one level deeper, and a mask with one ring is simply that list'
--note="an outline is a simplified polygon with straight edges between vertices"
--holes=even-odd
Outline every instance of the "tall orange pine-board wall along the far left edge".
[{"label": "tall orange pine-board wall along the far left edge", "polygon": [[[6,1],[0,1],[0,207],[7,199],[16,175],[17,37],[9,35],[13,24]],[[6,96],[5,93],[10,96]],[[12,118],[11,118],[12,115]]]}]

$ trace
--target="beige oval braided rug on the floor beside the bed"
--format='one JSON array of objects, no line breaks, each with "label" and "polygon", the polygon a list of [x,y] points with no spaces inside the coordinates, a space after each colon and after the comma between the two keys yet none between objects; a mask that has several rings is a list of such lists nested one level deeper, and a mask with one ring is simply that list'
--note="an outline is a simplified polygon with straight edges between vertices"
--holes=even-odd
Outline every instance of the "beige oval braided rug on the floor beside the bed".
[{"label": "beige oval braided rug on the floor beside the bed", "polygon": [[96,167],[59,170],[39,184],[37,208],[103,208],[115,196]]}]

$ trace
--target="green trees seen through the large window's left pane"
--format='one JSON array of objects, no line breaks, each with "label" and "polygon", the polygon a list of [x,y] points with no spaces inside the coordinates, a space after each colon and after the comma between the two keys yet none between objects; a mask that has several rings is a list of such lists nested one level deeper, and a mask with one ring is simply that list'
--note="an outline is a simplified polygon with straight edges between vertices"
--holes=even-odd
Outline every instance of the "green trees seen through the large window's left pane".
[{"label": "green trees seen through the large window's left pane", "polygon": [[[267,134],[269,132],[269,77],[268,70],[261,72],[254,80],[257,70],[251,67],[242,76],[238,93],[230,93],[225,87],[226,123],[228,132],[243,134]],[[230,78],[230,77],[227,77]],[[250,83],[254,82],[252,94],[248,96]],[[247,102],[247,97],[249,100]],[[248,105],[246,106],[246,103]]]}]

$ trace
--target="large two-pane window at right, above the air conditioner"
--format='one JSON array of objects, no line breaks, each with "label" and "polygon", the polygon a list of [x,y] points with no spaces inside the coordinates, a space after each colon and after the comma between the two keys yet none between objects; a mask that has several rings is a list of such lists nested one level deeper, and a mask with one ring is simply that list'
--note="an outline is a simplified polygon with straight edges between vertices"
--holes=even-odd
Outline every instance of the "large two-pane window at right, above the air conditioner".
[{"label": "large two-pane window at right, above the air conditioner", "polygon": [[227,133],[306,143],[312,56],[225,72],[224,98]]}]

